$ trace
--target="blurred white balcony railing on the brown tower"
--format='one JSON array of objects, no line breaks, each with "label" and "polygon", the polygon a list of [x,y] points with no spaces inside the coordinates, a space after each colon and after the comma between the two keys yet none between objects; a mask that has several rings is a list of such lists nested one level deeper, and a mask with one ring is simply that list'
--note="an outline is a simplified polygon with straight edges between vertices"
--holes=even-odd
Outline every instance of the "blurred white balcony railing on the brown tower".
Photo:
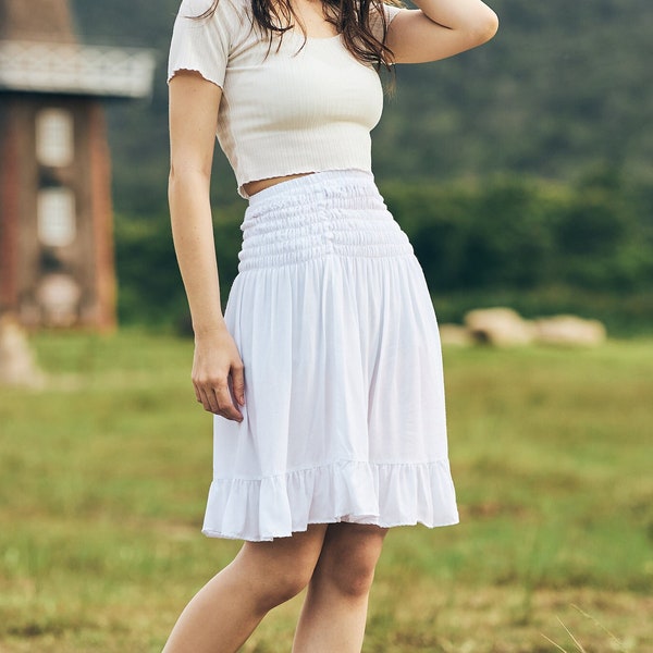
[{"label": "blurred white balcony railing on the brown tower", "polygon": [[140,48],[0,40],[0,90],[139,98],[155,65]]}]

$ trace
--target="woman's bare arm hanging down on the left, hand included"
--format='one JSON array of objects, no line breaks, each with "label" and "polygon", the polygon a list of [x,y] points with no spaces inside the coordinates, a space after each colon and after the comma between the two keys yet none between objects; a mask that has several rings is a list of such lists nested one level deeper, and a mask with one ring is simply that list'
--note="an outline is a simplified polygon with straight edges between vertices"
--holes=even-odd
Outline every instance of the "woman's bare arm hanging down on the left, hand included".
[{"label": "woman's bare arm hanging down on the left, hand included", "polygon": [[195,395],[206,410],[242,421],[243,361],[220,306],[209,201],[221,98],[222,89],[198,73],[181,71],[170,81],[169,201],[174,248],[195,333]]}]

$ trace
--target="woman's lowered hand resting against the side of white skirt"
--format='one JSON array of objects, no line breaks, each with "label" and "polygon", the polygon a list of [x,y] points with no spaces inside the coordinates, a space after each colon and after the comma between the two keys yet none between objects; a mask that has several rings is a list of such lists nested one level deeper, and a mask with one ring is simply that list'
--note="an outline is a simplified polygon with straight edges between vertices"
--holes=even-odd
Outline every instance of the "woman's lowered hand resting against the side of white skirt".
[{"label": "woman's lowered hand resting against the side of white skirt", "polygon": [[243,360],[226,328],[195,336],[193,358],[195,396],[205,410],[234,421],[243,421],[245,405]]}]

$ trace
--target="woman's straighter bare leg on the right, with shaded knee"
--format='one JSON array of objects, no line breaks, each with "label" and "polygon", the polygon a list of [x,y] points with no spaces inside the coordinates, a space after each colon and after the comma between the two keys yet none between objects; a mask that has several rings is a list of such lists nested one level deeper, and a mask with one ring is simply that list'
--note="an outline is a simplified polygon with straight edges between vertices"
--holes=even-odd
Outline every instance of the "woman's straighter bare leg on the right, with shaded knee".
[{"label": "woman's straighter bare leg on the right, with shaded knee", "polygon": [[293,653],[360,653],[369,591],[386,532],[358,523],[329,526]]}]

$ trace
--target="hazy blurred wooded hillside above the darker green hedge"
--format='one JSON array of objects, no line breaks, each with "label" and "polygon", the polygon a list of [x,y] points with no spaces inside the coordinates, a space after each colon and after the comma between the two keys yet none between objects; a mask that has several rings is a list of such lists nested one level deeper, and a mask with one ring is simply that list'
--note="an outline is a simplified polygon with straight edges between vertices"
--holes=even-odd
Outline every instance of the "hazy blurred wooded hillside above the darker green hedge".
[{"label": "hazy blurred wooded hillside above the darker green hedge", "polygon": [[[164,66],[177,0],[73,0],[95,42],[160,52],[151,101],[108,107],[121,212],[158,213],[168,168]],[[653,8],[648,0],[494,0],[489,45],[452,60],[397,66],[397,88],[374,131],[377,177],[443,180],[519,172],[566,180],[609,162],[653,180]],[[156,8],[156,9],[153,9]],[[217,201],[235,182],[215,167]]]}]

